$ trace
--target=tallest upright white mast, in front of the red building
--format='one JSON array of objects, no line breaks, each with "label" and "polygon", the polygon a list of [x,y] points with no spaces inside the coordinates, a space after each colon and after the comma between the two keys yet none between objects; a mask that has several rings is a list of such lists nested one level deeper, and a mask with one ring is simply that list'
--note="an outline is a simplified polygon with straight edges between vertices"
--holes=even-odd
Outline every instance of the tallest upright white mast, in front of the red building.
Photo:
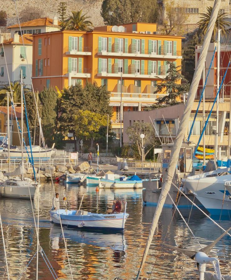
[{"label": "tallest upright white mast, in front of the red building", "polygon": [[[218,29],[217,32],[217,92],[219,91],[220,86],[220,29]],[[218,160],[218,125],[219,125],[219,96],[217,97],[217,112],[216,112],[216,138],[215,138],[215,155],[214,155],[214,161]]]}]

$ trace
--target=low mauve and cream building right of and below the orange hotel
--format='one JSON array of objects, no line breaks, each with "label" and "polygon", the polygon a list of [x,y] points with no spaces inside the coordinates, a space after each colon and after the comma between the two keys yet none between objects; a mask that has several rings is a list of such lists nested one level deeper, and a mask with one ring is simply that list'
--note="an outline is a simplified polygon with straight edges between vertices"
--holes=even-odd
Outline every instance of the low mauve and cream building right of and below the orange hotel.
[{"label": "low mauve and cream building right of and below the orange hotel", "polygon": [[[229,101],[219,104],[219,136],[218,136],[218,157],[219,159],[227,160],[228,151],[228,138],[229,138]],[[190,120],[188,129],[185,131],[185,140],[188,138],[190,128],[195,116],[195,112],[198,106],[198,101],[195,101],[190,114]],[[212,102],[205,102],[205,112],[211,110]],[[148,122],[151,120],[156,128],[155,137],[158,139],[158,135],[162,143],[171,143],[176,138],[176,133],[179,128],[179,124],[185,109],[184,103],[177,105],[159,108],[150,111],[141,112],[124,112],[124,133],[123,142],[129,143],[126,129],[134,122]],[[195,144],[198,143],[200,134],[203,128],[203,116],[202,116],[202,103],[200,104],[199,111],[195,120],[195,124],[192,130],[190,141]],[[150,120],[150,118],[151,120]],[[212,110],[211,117],[205,129],[205,147],[214,149],[215,133],[216,133],[216,105]],[[158,133],[158,135],[157,135]],[[171,136],[170,136],[171,134]],[[172,139],[171,139],[172,138]],[[203,147],[203,138],[200,141],[200,146]]]}]

